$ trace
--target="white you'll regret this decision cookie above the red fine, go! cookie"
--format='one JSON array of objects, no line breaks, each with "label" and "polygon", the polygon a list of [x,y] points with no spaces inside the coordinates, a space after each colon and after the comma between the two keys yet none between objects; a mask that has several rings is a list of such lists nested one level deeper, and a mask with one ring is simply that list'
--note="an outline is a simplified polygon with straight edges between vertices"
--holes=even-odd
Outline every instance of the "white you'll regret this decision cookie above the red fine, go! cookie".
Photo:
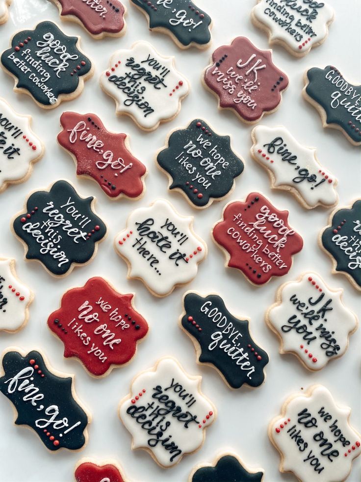
[{"label": "white you'll regret this decision cookie above the red fine, go! cookie", "polygon": [[188,81],[175,68],[174,57],[159,55],[148,42],[115,52],[100,84],[115,100],[116,113],[130,115],[147,131],[172,120],[189,89]]}]

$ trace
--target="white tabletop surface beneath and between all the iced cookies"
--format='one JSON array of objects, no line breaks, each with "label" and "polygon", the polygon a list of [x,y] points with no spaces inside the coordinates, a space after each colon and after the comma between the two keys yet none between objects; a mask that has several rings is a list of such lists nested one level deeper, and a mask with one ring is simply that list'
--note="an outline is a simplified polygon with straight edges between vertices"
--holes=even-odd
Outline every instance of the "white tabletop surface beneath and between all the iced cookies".
[{"label": "white tabletop surface beneath and between all the iced cookies", "polygon": [[[338,131],[321,126],[318,113],[301,96],[303,73],[311,66],[325,67],[334,64],[347,80],[357,84],[361,78],[360,68],[360,0],[329,0],[335,8],[335,22],[325,44],[312,50],[302,59],[291,57],[282,48],[274,49],[274,61],[284,70],[290,80],[284,92],[280,109],[266,116],[262,123],[275,126],[284,124],[300,142],[317,147],[318,158],[325,167],[338,177],[337,191],[340,206],[348,205],[361,192],[360,148],[352,146]],[[264,312],[273,303],[276,289],[285,281],[294,280],[306,270],[317,271],[333,288],[344,288],[346,306],[360,314],[360,293],[342,275],[331,275],[331,260],[317,245],[319,230],[328,224],[330,212],[317,208],[303,209],[291,195],[272,191],[268,176],[250,156],[251,126],[241,123],[232,112],[217,111],[216,98],[201,85],[202,70],[208,65],[214,49],[228,44],[237,35],[246,35],[260,49],[267,49],[267,36],[254,28],[250,21],[255,0],[199,0],[214,20],[213,44],[210,49],[179,50],[166,35],[148,31],[144,15],[123,0],[128,7],[127,33],[121,39],[93,40],[79,25],[62,22],[58,9],[45,0],[14,0],[10,7],[8,22],[0,27],[0,50],[8,48],[11,35],[17,29],[33,28],[42,20],[57,22],[64,32],[81,36],[81,48],[95,63],[94,77],[76,100],[64,102],[59,108],[45,111],[36,106],[24,94],[12,90],[13,79],[0,69],[0,96],[5,97],[19,113],[33,116],[33,130],[46,145],[45,156],[34,166],[25,184],[8,188],[0,195],[0,255],[17,260],[20,279],[30,285],[35,299],[30,307],[30,319],[25,329],[17,334],[0,334],[0,351],[15,345],[29,351],[42,350],[51,365],[67,373],[75,373],[75,386],[79,399],[92,413],[89,425],[89,442],[79,453],[63,450],[50,453],[32,430],[13,425],[12,404],[0,397],[0,480],[1,482],[69,482],[74,478],[74,467],[82,457],[114,458],[121,463],[126,476],[132,481],[186,481],[194,465],[212,461],[219,451],[233,449],[249,467],[262,467],[265,481],[292,481],[295,478],[278,470],[279,455],[269,442],[269,421],[279,413],[281,405],[290,394],[314,383],[322,383],[333,393],[339,404],[353,408],[352,425],[361,430],[360,417],[360,368],[361,330],[351,338],[344,357],[331,362],[321,372],[309,372],[293,355],[279,355],[279,341],[264,323]],[[190,81],[191,92],[183,101],[178,117],[162,124],[155,132],[145,134],[130,118],[115,115],[113,100],[105,95],[99,85],[100,73],[107,68],[108,59],[120,48],[129,48],[136,40],[153,43],[163,55],[175,55],[176,66]],[[110,201],[97,183],[77,178],[70,155],[56,142],[60,131],[59,117],[63,111],[94,112],[105,126],[115,132],[130,134],[130,147],[136,157],[147,166],[146,193],[139,201]],[[195,117],[204,117],[220,134],[230,134],[232,145],[245,161],[245,170],[236,180],[231,199],[244,199],[247,194],[259,190],[280,209],[290,211],[290,225],[304,238],[303,251],[294,257],[292,269],[283,279],[274,278],[265,286],[253,287],[243,275],[224,267],[224,256],[210,238],[210,228],[220,219],[226,201],[213,203],[203,211],[194,210],[180,194],[167,191],[168,180],[154,163],[154,153],[160,148],[167,133],[175,127],[187,125]],[[23,209],[28,192],[42,189],[57,179],[70,180],[82,196],[97,197],[96,211],[108,225],[108,236],[99,245],[98,255],[87,266],[76,268],[65,279],[52,278],[35,262],[24,261],[22,244],[10,231],[10,219]],[[195,215],[194,228],[208,244],[206,261],[200,264],[197,278],[186,287],[177,288],[164,299],[153,297],[139,281],[128,281],[126,263],[114,252],[115,234],[126,223],[129,212],[139,206],[150,204],[155,198],[165,197],[184,215]],[[149,322],[150,333],[138,346],[138,354],[125,368],[114,369],[103,379],[88,375],[76,359],[63,358],[63,344],[56,340],[47,328],[49,314],[58,308],[63,292],[73,286],[83,285],[92,276],[103,276],[120,292],[135,292],[135,307]],[[267,378],[263,386],[250,390],[230,390],[218,373],[196,364],[196,354],[191,340],[181,332],[178,317],[182,312],[181,297],[187,289],[203,294],[218,292],[228,309],[240,316],[251,318],[254,339],[268,352],[270,362],[266,367]],[[202,389],[218,409],[218,419],[206,431],[203,448],[186,455],[172,469],[161,469],[149,454],[142,450],[131,451],[131,437],[117,415],[117,406],[129,393],[130,381],[143,369],[152,367],[157,358],[164,355],[177,357],[184,369],[191,374],[202,374]],[[361,457],[356,459],[349,481],[361,479]],[[307,481],[313,482],[313,481]]]}]

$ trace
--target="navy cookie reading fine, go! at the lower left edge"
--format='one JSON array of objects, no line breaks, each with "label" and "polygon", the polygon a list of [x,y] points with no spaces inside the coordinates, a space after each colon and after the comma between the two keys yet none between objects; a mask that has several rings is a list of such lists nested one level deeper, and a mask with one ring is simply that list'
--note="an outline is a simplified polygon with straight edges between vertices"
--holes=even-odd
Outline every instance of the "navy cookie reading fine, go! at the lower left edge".
[{"label": "navy cookie reading fine, go! at the lower left edge", "polygon": [[90,416],[78,403],[74,375],[48,367],[38,351],[23,355],[19,348],[8,348],[2,356],[0,392],[14,405],[15,424],[34,430],[47,449],[81,449]]}]

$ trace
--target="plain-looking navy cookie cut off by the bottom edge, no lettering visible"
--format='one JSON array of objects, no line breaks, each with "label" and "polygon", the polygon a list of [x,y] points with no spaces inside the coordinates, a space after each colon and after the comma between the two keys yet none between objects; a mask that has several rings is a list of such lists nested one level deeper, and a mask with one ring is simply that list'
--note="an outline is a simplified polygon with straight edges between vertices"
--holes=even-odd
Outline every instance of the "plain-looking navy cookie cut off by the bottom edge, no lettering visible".
[{"label": "plain-looking navy cookie cut off by the bottom edge, no lettering visible", "polygon": [[219,455],[212,464],[198,464],[188,482],[262,482],[263,469],[249,471],[242,460],[232,453]]}]

